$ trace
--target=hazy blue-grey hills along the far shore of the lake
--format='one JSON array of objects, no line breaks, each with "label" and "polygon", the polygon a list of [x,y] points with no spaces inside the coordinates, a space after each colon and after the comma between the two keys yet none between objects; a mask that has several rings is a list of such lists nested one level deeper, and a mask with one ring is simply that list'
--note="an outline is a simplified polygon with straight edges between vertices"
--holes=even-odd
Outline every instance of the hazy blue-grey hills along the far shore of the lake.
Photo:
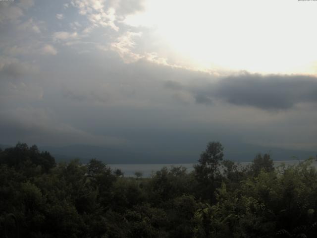
[{"label": "hazy blue-grey hills along the far shore of the lake", "polygon": [[[3,150],[13,145],[0,144]],[[31,146],[31,144],[29,144]],[[103,147],[92,145],[70,145],[70,146],[41,146],[40,150],[49,151],[57,162],[69,161],[75,158],[83,163],[92,158],[102,160],[107,164],[185,164],[196,163],[202,152],[201,148],[177,150],[143,151],[142,149],[128,149],[121,147]],[[224,145],[224,158],[235,162],[249,162],[258,153],[269,153],[274,161],[304,160],[316,157],[314,151],[287,150],[280,148],[269,148],[248,144],[236,144],[234,147]]]}]

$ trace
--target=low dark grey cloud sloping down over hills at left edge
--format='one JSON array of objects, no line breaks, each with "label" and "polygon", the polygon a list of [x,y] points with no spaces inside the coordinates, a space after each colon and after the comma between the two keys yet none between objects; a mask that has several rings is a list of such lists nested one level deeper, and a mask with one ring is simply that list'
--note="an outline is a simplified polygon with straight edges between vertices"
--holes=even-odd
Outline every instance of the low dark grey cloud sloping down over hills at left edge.
[{"label": "low dark grey cloud sloping down over hills at left edge", "polygon": [[[28,143],[42,141],[42,144],[65,145],[65,141],[75,144],[122,145],[127,140],[114,136],[93,135],[60,122],[52,110],[41,108],[16,108],[0,111],[0,140],[16,143],[20,138]],[[60,143],[60,138],[64,141]]]}]

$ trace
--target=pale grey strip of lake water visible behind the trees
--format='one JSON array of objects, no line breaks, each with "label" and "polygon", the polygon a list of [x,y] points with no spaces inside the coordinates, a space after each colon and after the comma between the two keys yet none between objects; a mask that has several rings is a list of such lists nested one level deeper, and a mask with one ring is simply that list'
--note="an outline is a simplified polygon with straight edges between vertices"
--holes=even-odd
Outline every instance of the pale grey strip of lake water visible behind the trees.
[{"label": "pale grey strip of lake water visible behind the trees", "polygon": [[[237,163],[241,166],[246,166],[251,162],[241,162]],[[286,165],[295,165],[299,163],[298,160],[288,160],[288,161],[274,161],[274,166],[278,167],[282,163]],[[141,172],[144,178],[149,178],[151,175],[163,167],[170,168],[171,166],[179,167],[183,166],[187,169],[187,172],[192,172],[194,170],[194,164],[109,164],[112,170],[120,169],[124,173],[124,177],[135,177],[135,172]],[[314,161],[314,166],[317,167],[317,161]]]}]

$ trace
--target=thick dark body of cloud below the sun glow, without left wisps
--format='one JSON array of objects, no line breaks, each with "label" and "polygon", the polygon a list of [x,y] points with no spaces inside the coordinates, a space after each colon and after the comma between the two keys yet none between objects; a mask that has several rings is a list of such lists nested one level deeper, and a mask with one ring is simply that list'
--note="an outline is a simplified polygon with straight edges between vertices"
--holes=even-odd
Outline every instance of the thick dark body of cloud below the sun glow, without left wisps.
[{"label": "thick dark body of cloud below the sun glow, without left wisps", "polygon": [[317,78],[243,73],[219,80],[211,88],[211,95],[234,105],[290,109],[298,103],[317,103]]}]

